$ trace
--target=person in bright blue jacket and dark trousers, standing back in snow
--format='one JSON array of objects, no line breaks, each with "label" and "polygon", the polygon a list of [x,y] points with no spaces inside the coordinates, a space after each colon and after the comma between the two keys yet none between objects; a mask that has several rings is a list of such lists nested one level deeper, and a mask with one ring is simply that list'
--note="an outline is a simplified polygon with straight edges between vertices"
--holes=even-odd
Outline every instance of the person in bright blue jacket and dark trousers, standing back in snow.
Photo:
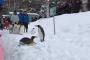
[{"label": "person in bright blue jacket and dark trousers, standing back in snow", "polygon": [[24,12],[20,11],[20,14],[18,16],[19,16],[20,28],[21,28],[21,25],[24,25],[24,27],[25,27],[24,32],[27,32],[28,31],[28,24],[29,24],[29,16],[28,16],[28,14],[26,13],[26,11],[24,11]]}]

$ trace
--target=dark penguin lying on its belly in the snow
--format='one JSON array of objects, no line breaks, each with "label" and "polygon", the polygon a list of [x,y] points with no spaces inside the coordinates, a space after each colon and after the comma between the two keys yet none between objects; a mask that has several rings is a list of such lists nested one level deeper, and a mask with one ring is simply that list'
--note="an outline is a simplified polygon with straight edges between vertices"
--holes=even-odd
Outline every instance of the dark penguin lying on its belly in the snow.
[{"label": "dark penguin lying on its belly in the snow", "polygon": [[24,37],[19,41],[19,46],[32,44],[32,43],[34,43],[35,38],[36,38],[36,36],[32,36],[31,39],[28,37]]}]

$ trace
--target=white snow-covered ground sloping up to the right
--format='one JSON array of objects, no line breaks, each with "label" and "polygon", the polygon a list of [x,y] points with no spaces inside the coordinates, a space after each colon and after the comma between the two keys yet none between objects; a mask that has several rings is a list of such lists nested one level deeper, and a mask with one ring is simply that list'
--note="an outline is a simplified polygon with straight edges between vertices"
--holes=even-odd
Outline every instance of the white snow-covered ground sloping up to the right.
[{"label": "white snow-covered ground sloping up to the right", "polygon": [[[19,47],[19,40],[25,36],[31,37],[31,29],[37,24],[45,30],[45,42]],[[4,30],[5,59],[90,60],[90,12],[56,16],[55,35],[53,28],[53,18],[47,18],[30,23],[28,33],[23,35],[9,34]]]}]

